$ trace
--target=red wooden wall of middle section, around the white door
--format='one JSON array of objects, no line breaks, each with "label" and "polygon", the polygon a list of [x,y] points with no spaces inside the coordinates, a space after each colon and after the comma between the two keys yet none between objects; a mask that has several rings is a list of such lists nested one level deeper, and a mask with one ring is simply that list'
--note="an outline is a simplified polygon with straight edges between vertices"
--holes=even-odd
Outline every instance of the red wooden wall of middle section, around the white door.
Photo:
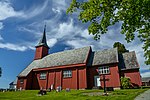
[{"label": "red wooden wall of middle section, around the white door", "polygon": [[[110,73],[105,74],[105,78],[108,79],[106,81],[106,87],[114,87],[120,88],[120,76],[119,76],[119,69],[117,64],[107,65],[109,66]],[[100,76],[100,79],[103,79],[102,75],[98,74],[98,67],[90,67],[87,71],[87,79],[88,79],[88,88],[94,87],[94,76]],[[101,80],[101,86],[104,87],[103,81]]]}]

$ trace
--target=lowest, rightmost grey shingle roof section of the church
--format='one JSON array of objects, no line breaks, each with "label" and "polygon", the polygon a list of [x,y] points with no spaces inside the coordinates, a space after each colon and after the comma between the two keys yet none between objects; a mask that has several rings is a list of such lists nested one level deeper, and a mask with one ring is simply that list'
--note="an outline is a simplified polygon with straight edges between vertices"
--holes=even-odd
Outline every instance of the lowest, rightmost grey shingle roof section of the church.
[{"label": "lowest, rightmost grey shingle roof section of the church", "polygon": [[119,68],[121,70],[139,68],[139,64],[137,62],[136,54],[134,51],[119,55]]}]

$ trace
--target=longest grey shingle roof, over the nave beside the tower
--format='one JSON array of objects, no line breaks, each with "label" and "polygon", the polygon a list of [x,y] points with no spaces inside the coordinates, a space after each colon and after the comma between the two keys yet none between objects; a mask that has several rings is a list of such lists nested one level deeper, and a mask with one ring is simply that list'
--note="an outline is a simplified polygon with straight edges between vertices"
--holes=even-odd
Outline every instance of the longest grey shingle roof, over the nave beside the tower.
[{"label": "longest grey shingle roof, over the nave beside the tower", "polygon": [[45,68],[71,64],[86,63],[90,47],[84,47],[63,52],[49,54],[46,57],[34,60],[27,68],[25,68],[19,76],[27,76],[34,68]]}]

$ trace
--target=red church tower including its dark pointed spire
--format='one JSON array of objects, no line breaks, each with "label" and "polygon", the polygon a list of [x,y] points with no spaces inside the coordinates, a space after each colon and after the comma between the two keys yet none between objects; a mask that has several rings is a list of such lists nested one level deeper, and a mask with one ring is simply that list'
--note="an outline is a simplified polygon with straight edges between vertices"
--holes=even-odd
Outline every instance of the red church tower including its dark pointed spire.
[{"label": "red church tower including its dark pointed spire", "polygon": [[43,36],[42,36],[40,42],[38,43],[38,45],[35,47],[36,47],[36,52],[35,52],[34,60],[42,59],[43,57],[48,55],[49,47],[46,42],[46,25],[44,27]]}]

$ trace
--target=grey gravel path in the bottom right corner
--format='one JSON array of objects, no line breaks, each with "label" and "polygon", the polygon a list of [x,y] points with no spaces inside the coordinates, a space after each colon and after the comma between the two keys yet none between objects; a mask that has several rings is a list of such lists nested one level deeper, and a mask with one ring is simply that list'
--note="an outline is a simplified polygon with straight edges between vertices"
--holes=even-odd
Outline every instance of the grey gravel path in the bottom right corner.
[{"label": "grey gravel path in the bottom right corner", "polygon": [[150,100],[150,89],[138,95],[134,100]]}]

